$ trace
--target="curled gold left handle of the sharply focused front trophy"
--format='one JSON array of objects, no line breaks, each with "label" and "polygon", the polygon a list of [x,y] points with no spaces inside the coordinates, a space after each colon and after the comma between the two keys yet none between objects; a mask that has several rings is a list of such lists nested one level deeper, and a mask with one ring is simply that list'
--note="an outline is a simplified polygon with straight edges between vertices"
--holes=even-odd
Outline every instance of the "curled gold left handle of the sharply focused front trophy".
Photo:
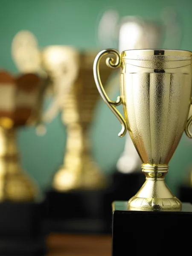
[{"label": "curled gold left handle of the sharply focused front trophy", "polygon": [[103,88],[100,75],[99,75],[99,63],[103,56],[107,54],[113,54],[116,56],[116,62],[113,63],[114,59],[111,57],[108,57],[106,59],[106,65],[110,68],[118,68],[121,65],[121,55],[119,52],[115,49],[105,49],[98,53],[98,55],[95,58],[94,64],[93,64],[93,75],[95,79],[95,83],[97,86],[97,89],[102,96],[102,99],[104,102],[108,105],[108,107],[111,109],[111,111],[115,114],[115,116],[119,119],[119,122],[122,125],[122,129],[119,132],[119,137],[123,137],[126,134],[127,131],[127,123],[125,121],[125,118],[122,116],[122,114],[116,109],[117,106],[122,104],[122,97],[118,96],[116,101],[112,101],[108,98],[107,94],[105,93],[105,90]]}]

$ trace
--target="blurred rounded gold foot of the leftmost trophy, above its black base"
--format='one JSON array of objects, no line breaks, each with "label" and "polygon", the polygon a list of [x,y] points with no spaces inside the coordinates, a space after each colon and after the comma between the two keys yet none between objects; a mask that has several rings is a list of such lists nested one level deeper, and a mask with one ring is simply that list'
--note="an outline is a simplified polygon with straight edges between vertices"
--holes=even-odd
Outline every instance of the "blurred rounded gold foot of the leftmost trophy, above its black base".
[{"label": "blurred rounded gold foot of the leftmost trophy, above its black base", "polygon": [[0,201],[33,201],[38,188],[22,172],[0,177]]}]

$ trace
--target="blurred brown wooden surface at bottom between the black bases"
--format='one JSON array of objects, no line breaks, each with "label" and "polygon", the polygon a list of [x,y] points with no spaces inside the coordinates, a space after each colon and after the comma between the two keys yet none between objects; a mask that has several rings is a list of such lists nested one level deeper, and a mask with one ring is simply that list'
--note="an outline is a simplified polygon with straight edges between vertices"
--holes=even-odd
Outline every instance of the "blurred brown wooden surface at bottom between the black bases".
[{"label": "blurred brown wooden surface at bottom between the black bases", "polygon": [[47,256],[111,256],[111,236],[51,234]]}]

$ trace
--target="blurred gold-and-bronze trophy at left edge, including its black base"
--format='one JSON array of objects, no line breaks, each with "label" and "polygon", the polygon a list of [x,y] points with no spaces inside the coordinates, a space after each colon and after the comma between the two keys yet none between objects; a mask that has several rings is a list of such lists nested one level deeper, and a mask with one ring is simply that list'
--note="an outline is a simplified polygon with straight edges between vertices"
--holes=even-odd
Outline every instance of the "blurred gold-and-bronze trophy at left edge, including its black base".
[{"label": "blurred gold-and-bronze trophy at left edge, including its black base", "polygon": [[19,128],[40,120],[44,85],[35,73],[13,76],[0,71],[1,255],[45,252],[44,236],[39,233],[43,197],[21,167],[16,140]]}]

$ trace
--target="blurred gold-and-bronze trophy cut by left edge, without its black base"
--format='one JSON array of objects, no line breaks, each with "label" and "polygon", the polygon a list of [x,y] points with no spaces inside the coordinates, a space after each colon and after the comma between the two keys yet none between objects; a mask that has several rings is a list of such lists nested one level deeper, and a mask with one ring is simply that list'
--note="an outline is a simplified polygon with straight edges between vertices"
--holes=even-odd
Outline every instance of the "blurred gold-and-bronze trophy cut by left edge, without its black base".
[{"label": "blurred gold-and-bronze trophy cut by left edge, without its black base", "polygon": [[39,120],[42,85],[35,74],[0,71],[0,201],[32,201],[38,194],[20,166],[16,131]]}]

